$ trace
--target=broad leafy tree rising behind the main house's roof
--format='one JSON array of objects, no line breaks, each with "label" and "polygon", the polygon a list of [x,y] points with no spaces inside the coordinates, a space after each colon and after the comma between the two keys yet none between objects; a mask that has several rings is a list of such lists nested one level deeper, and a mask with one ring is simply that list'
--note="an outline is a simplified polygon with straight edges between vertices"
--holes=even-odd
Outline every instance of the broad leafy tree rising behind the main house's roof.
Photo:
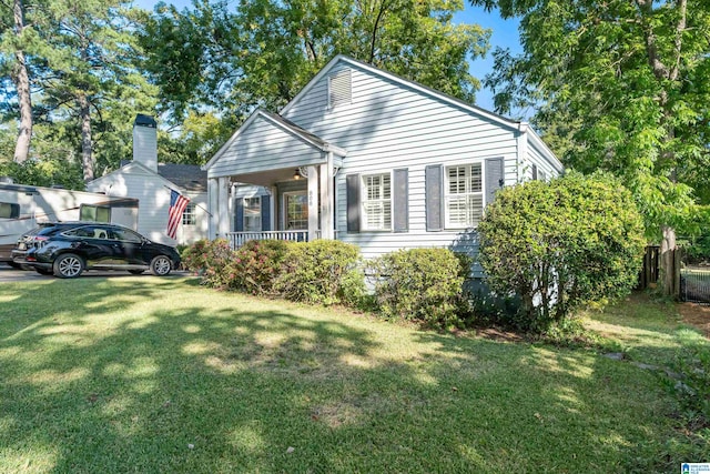
[{"label": "broad leafy tree rising behind the main house's roof", "polygon": [[473,102],[468,60],[489,31],[454,24],[463,2],[445,0],[195,1],[159,4],[142,36],[146,68],[166,112],[180,121],[205,107],[231,133],[257,107],[278,109],[335,54],[384,68]]}]

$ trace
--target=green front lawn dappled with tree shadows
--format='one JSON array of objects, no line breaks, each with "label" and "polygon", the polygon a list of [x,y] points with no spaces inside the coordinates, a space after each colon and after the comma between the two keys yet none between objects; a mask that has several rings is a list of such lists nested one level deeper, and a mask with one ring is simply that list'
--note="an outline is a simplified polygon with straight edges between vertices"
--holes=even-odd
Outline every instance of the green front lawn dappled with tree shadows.
[{"label": "green front lawn dappled with tree shadows", "polygon": [[[672,305],[646,301],[590,324],[649,363],[699,337]],[[671,406],[651,371],[591,350],[422,332],[194,279],[0,285],[2,473],[609,473],[710,461],[669,458]]]}]

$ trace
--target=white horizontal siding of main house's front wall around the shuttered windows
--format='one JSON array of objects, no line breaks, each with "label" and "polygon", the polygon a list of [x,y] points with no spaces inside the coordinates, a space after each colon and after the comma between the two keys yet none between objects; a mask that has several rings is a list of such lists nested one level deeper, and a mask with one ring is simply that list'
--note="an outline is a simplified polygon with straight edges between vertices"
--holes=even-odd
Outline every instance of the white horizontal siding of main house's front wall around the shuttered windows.
[{"label": "white horizontal siding of main house's front wall around the shuttered windows", "polygon": [[[336,64],[331,73],[343,68],[352,69],[352,103],[328,109],[326,74],[284,113],[300,127],[347,150],[336,181],[337,238],[359,245],[365,258],[422,246],[475,251],[477,243],[471,242],[475,238],[470,232],[426,231],[425,167],[503,158],[505,182],[514,184],[518,132],[349,63]],[[409,231],[347,233],[345,177],[395,168],[409,171]]]}]

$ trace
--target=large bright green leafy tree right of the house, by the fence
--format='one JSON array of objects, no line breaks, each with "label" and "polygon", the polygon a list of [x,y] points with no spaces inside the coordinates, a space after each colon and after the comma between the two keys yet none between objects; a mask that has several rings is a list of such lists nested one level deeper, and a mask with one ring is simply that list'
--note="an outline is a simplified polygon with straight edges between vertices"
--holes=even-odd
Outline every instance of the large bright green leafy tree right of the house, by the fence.
[{"label": "large bright green leafy tree right of the house, by the fence", "polygon": [[[473,0],[521,17],[524,53],[497,51],[498,111],[535,104],[558,153],[585,172],[608,170],[633,192],[670,268],[676,230],[701,211],[709,173],[710,14],[688,0]],[[571,119],[571,121],[570,121]],[[569,127],[572,123],[575,127]],[[702,177],[702,178],[701,178]],[[663,288],[672,289],[665,271]]]}]

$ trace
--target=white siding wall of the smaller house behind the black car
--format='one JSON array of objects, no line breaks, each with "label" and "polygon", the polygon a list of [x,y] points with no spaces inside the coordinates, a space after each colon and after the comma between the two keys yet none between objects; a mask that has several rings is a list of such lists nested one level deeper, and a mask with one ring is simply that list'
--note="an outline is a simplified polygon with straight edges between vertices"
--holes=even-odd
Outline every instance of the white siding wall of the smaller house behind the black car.
[{"label": "white siding wall of the smaller house behind the black car", "polygon": [[[152,241],[174,245],[206,239],[206,193],[184,193],[202,206],[202,209],[199,208],[196,210],[197,224],[190,226],[190,229],[183,229],[181,224],[178,229],[176,240],[170,239],[165,234],[170,210],[170,189],[166,186],[168,183],[170,182],[158,174],[149,173],[141,169],[131,171],[124,168],[88,183],[87,188],[94,192],[104,192],[108,195],[138,199],[138,232]],[[172,188],[180,191],[179,186],[174,184]]]}]

